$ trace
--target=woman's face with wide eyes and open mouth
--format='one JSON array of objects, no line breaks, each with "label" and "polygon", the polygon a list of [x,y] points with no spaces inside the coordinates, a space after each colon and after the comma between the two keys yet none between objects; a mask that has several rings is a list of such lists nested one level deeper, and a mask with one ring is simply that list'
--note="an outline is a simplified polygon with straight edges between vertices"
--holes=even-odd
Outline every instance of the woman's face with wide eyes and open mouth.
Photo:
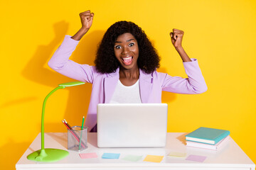
[{"label": "woman's face with wide eyes and open mouth", "polygon": [[137,69],[139,46],[131,33],[124,33],[114,42],[114,55],[121,64],[120,69]]}]

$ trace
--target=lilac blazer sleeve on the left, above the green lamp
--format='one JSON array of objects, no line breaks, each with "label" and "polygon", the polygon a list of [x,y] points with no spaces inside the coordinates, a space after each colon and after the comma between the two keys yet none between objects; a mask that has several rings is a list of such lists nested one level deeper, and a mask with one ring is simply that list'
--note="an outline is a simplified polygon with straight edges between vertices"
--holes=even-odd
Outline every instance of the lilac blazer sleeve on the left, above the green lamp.
[{"label": "lilac blazer sleeve on the left, above the green lamp", "polygon": [[87,64],[78,64],[69,60],[78,42],[77,40],[73,40],[70,35],[65,35],[62,44],[49,60],[48,66],[66,77],[92,83],[95,67]]}]

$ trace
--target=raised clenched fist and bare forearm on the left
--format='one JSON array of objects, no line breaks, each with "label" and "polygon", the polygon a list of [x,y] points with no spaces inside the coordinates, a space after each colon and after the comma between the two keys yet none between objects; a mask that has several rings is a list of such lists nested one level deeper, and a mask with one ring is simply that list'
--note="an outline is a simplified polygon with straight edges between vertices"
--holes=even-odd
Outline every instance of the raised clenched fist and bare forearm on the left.
[{"label": "raised clenched fist and bare forearm on the left", "polygon": [[81,23],[82,23],[82,28],[78,30],[78,33],[75,33],[75,35],[72,37],[74,40],[80,40],[85,33],[90,29],[92,26],[92,20],[94,13],[91,13],[90,10],[82,12],[79,14]]}]

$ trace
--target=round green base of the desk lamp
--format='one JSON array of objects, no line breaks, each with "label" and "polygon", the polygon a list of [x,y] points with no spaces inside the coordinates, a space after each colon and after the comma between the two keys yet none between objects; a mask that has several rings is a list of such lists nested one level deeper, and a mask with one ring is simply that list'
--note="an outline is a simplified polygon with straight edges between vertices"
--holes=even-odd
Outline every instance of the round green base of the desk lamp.
[{"label": "round green base of the desk lamp", "polygon": [[60,159],[67,157],[68,151],[62,149],[39,149],[31,154],[28,154],[28,159],[36,162],[57,162]]}]

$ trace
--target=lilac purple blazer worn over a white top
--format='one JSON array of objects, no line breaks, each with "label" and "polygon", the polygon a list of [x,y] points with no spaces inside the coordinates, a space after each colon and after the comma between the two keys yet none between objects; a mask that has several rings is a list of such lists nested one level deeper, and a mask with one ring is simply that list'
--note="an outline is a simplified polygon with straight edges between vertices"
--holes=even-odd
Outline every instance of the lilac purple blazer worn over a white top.
[{"label": "lilac purple blazer worn over a white top", "polygon": [[[78,64],[69,60],[70,55],[78,45],[66,35],[63,43],[55,51],[48,62],[50,68],[72,79],[92,84],[90,105],[85,120],[85,126],[91,130],[97,123],[97,104],[109,103],[119,80],[119,68],[110,74],[101,74],[95,66]],[[201,69],[196,59],[192,62],[183,62],[188,78],[171,77],[169,74],[153,72],[146,74],[139,70],[139,91],[142,103],[161,103],[161,91],[170,91],[176,94],[201,94],[207,90]]]}]

